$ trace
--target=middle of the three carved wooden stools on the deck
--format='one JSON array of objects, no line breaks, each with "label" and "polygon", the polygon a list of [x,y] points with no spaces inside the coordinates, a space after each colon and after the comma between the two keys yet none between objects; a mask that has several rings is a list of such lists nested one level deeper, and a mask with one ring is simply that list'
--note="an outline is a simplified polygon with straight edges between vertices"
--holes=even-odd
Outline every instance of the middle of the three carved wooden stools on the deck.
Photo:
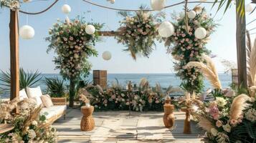
[{"label": "middle of the three carved wooden stools on the deck", "polygon": [[171,100],[166,99],[166,103],[163,105],[163,124],[166,128],[174,126],[174,105],[171,104]]}]

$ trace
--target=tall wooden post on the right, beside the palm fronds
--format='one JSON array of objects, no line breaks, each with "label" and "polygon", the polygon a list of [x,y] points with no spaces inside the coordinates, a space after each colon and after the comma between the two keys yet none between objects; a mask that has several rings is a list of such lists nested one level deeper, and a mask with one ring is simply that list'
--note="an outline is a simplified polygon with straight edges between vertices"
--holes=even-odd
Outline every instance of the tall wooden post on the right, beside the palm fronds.
[{"label": "tall wooden post on the right, beside the palm fronds", "polygon": [[[245,16],[240,15],[238,7],[240,0],[236,0],[237,8],[237,67],[238,67],[238,84],[247,87],[247,57],[246,57],[246,21]],[[245,6],[245,5],[243,5]]]}]

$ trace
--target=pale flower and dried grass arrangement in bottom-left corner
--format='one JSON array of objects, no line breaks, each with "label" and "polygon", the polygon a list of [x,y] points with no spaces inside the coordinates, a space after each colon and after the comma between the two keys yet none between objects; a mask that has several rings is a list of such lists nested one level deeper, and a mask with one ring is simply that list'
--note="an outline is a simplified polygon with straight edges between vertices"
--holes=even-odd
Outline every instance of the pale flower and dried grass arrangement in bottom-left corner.
[{"label": "pale flower and dried grass arrangement in bottom-left corner", "polygon": [[[11,114],[19,107],[19,114]],[[40,115],[42,107],[36,107],[33,99],[13,99],[0,104],[0,123],[14,126],[9,132],[0,134],[0,142],[56,142],[56,129],[47,124]]]}]

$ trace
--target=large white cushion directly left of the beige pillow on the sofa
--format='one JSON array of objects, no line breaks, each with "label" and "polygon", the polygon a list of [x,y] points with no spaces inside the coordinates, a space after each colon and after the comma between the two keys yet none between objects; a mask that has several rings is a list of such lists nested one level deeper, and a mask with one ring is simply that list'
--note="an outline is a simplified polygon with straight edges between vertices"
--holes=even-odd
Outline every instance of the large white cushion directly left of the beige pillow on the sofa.
[{"label": "large white cushion directly left of the beige pillow on the sofa", "polygon": [[29,98],[35,99],[37,102],[37,106],[42,104],[42,99],[41,99],[42,91],[41,91],[40,87],[35,87],[35,88],[27,87],[27,96]]}]

